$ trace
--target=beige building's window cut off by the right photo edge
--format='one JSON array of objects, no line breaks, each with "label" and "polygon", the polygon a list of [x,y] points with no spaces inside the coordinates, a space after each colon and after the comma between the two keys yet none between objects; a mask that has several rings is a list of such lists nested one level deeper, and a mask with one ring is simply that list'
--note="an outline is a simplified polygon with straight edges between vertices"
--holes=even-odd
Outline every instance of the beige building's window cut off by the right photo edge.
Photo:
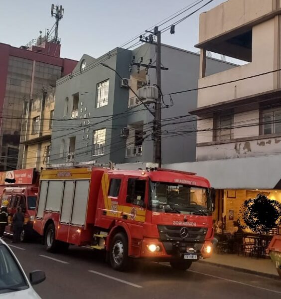
[{"label": "beige building's window cut off by the right photo edge", "polygon": [[262,134],[281,133],[281,106],[262,111]]}]

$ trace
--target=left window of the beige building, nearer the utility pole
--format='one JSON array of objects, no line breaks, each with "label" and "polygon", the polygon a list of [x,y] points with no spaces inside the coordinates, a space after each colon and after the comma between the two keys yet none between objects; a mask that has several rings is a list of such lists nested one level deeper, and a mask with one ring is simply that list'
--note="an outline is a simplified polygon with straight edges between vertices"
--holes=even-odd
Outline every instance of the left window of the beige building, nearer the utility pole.
[{"label": "left window of the beige building, nearer the utility pole", "polygon": [[214,140],[223,141],[233,138],[233,114],[219,115],[214,118]]}]

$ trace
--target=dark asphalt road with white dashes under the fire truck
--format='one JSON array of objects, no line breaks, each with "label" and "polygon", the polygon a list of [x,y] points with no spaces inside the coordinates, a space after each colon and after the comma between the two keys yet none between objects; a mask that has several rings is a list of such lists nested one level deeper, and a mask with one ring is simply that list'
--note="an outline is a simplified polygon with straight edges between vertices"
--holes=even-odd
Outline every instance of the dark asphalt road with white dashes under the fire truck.
[{"label": "dark asphalt road with white dashes under the fire truck", "polygon": [[281,298],[281,281],[200,262],[183,273],[157,263],[140,263],[130,273],[120,273],[95,250],[72,246],[67,254],[51,254],[41,244],[16,246],[11,249],[27,274],[46,273],[46,281],[34,286],[42,299]]}]

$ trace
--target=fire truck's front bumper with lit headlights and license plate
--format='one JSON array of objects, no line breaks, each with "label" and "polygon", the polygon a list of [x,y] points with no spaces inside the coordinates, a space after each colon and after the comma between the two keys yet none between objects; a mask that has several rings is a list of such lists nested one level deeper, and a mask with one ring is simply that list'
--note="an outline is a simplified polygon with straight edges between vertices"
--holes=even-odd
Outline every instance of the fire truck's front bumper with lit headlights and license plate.
[{"label": "fire truck's front bumper with lit headlights and license plate", "polygon": [[161,242],[158,239],[144,238],[140,256],[155,261],[171,259],[198,261],[200,258],[211,257],[212,251],[213,248],[210,241],[190,244],[187,242]]}]

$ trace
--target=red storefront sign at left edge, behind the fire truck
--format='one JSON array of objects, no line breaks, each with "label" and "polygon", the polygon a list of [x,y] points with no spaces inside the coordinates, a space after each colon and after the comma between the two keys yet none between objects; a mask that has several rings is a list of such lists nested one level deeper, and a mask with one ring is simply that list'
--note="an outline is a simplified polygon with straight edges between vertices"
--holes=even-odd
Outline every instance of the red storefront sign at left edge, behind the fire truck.
[{"label": "red storefront sign at left edge, behind the fire truck", "polygon": [[0,172],[0,185],[32,184],[33,174],[33,168]]}]

